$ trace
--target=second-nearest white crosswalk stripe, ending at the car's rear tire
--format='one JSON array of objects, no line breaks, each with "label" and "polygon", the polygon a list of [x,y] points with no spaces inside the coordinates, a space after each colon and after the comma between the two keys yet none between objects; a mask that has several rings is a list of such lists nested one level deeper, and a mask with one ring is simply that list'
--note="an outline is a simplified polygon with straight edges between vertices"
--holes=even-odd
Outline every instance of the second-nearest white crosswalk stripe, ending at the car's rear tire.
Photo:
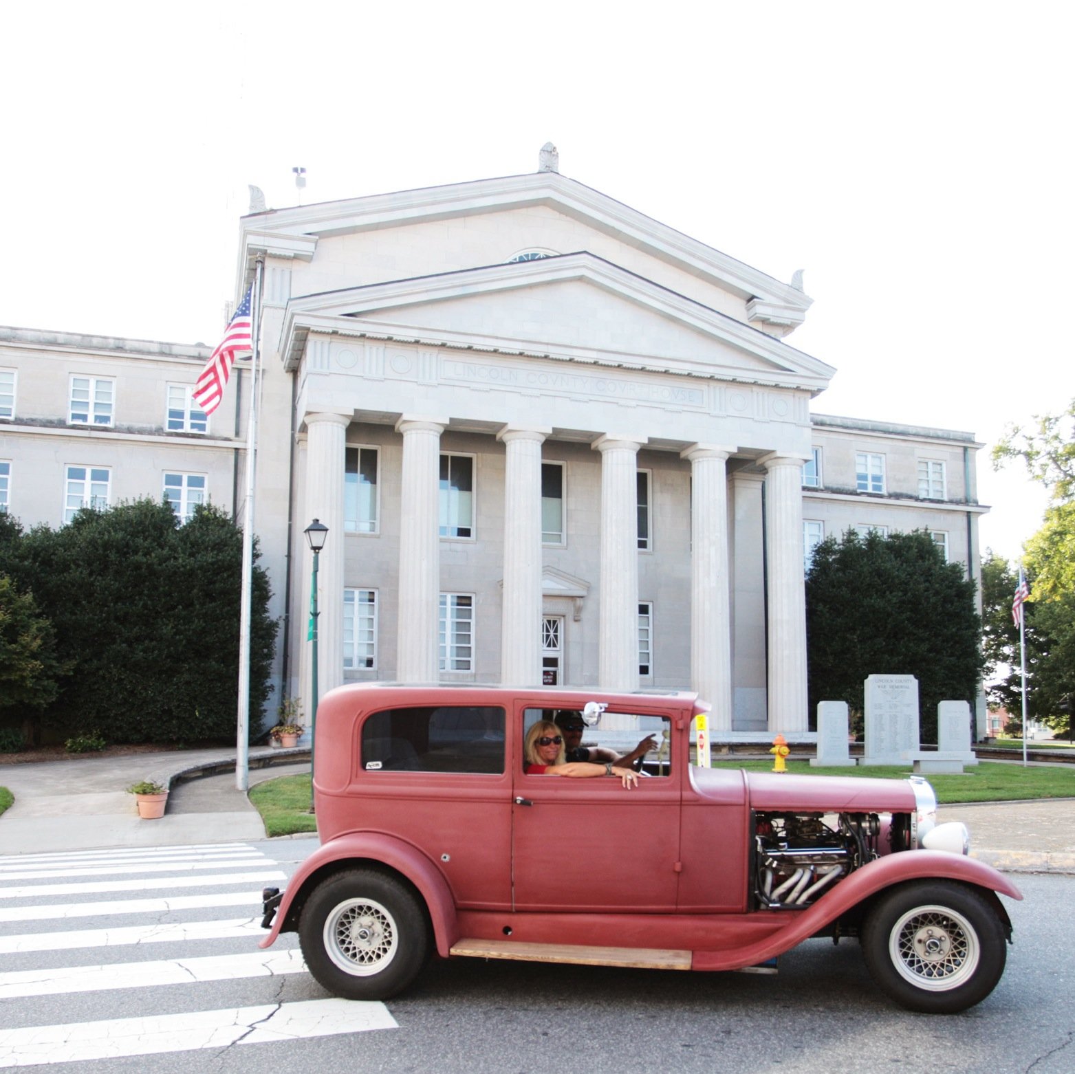
[{"label": "second-nearest white crosswalk stripe, ending at the car's rear tire", "polygon": [[297,948],[259,950],[247,955],[210,955],[118,962],[111,965],[72,965],[55,970],[9,970],[0,973],[0,1000],[66,992],[101,992],[114,988],[153,988],[192,982],[236,980],[241,977],[305,973]]}]

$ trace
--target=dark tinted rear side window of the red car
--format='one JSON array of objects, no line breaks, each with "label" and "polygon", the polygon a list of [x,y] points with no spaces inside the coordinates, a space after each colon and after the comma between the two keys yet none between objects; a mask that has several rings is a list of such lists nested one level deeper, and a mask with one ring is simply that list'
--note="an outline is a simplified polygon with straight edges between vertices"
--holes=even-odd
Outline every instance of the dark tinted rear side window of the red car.
[{"label": "dark tinted rear side window of the red car", "polygon": [[504,771],[504,710],[476,705],[386,708],[362,725],[367,772]]}]

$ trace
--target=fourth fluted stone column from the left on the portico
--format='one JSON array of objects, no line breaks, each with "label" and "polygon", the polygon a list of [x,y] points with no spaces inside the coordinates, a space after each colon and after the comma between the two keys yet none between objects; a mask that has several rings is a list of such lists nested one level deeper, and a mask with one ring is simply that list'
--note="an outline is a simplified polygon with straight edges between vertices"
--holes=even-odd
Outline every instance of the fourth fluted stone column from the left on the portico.
[{"label": "fourth fluted stone column from the left on the portico", "polygon": [[639,688],[639,448],[645,436],[606,433],[601,453],[600,686]]}]

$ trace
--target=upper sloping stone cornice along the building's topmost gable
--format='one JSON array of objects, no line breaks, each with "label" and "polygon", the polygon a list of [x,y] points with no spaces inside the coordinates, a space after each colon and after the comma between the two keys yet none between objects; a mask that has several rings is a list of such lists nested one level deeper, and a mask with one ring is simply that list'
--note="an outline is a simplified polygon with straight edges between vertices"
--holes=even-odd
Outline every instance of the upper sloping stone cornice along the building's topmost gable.
[{"label": "upper sloping stone cornice along the building's topmost gable", "polygon": [[[562,212],[691,275],[707,280],[744,301],[758,300],[760,304],[755,307],[754,319],[783,328],[794,327],[805,319],[813,303],[813,299],[791,284],[774,280],[557,172],[508,175],[247,216],[242,220],[239,275],[245,280],[249,271],[248,257],[255,237],[262,243],[268,243],[269,237],[276,237],[275,241],[285,249],[278,256],[293,257],[299,255],[286,252],[288,238],[316,243],[321,235],[350,234],[534,205]],[[310,252],[312,254],[312,246]],[[271,250],[267,248],[267,253]],[[770,320],[771,317],[774,319]]]}]

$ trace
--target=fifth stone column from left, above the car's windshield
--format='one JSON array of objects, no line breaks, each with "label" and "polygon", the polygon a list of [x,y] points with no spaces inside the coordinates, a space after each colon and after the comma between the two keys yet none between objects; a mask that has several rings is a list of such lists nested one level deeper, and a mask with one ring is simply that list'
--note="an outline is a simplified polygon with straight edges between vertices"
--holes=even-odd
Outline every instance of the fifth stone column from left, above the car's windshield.
[{"label": "fifth stone column from left, above the car's windshield", "polygon": [[728,469],[732,448],[692,444],[690,460],[690,686],[713,706],[713,733],[732,729]]}]

